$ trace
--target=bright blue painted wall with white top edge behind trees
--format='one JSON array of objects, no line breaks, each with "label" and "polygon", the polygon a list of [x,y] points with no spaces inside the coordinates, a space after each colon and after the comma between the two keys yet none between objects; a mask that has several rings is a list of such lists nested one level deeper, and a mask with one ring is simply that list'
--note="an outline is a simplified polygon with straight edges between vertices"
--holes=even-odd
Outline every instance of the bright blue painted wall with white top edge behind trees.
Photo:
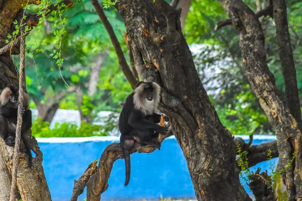
[{"label": "bright blue painted wall with white top edge behind trees", "polygon": [[[244,136],[248,141],[248,136]],[[253,144],[273,140],[272,136],[255,136]],[[37,139],[43,152],[43,167],[53,201],[69,200],[73,180],[78,179],[87,166],[100,158],[105,147],[118,142],[116,137],[92,138],[50,138]],[[277,163],[277,159],[273,159]],[[269,170],[269,162],[261,162],[254,168]],[[155,199],[163,197],[195,198],[187,162],[174,137],[163,142],[161,151],[150,154],[131,155],[131,179],[124,186],[124,160],[114,163],[109,187],[102,194],[102,200],[112,199]],[[245,183],[242,180],[242,183]],[[246,189],[252,194],[249,189]],[[84,200],[86,190],[79,200]]]}]

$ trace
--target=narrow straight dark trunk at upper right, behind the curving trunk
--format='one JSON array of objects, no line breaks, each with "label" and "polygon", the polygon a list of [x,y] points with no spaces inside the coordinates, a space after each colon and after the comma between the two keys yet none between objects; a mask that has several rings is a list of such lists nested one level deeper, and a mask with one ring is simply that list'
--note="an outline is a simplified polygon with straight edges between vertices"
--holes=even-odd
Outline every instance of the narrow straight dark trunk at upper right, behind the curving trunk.
[{"label": "narrow straight dark trunk at upper right, behind the curving trunk", "polygon": [[287,23],[286,1],[274,0],[273,10],[276,24],[278,52],[285,84],[286,104],[289,108],[290,114],[295,118],[301,128],[302,122],[299,93]]}]

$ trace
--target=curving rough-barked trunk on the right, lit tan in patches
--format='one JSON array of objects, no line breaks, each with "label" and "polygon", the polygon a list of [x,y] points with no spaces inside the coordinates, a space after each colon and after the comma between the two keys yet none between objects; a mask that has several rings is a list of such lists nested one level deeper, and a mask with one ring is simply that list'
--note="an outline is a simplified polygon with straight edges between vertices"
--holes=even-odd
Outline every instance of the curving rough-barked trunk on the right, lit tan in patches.
[{"label": "curving rough-barked trunk on the right, lit tan in patches", "polygon": [[[233,25],[240,32],[242,62],[253,92],[277,136],[279,161],[277,170],[290,164],[293,151],[297,156],[292,165],[282,174],[281,184],[286,186],[287,200],[302,197],[301,131],[297,121],[279,94],[273,74],[266,63],[264,34],[257,16],[241,0],[219,0]],[[280,190],[275,189],[275,192]],[[282,193],[282,192],[281,192]],[[281,194],[276,195],[278,198]]]}]

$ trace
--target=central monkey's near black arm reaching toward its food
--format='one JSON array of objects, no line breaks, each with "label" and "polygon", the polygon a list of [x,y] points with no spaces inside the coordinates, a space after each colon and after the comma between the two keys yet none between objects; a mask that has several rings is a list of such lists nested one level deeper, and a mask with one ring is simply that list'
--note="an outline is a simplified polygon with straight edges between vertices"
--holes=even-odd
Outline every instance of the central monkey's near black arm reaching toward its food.
[{"label": "central monkey's near black arm reaching toward its food", "polygon": [[152,129],[156,132],[163,133],[163,134],[168,132],[168,128],[162,127],[154,122],[150,122],[146,119],[143,119],[142,117],[139,117],[133,112],[129,116],[128,124],[134,129],[138,129],[142,131],[147,131]]}]

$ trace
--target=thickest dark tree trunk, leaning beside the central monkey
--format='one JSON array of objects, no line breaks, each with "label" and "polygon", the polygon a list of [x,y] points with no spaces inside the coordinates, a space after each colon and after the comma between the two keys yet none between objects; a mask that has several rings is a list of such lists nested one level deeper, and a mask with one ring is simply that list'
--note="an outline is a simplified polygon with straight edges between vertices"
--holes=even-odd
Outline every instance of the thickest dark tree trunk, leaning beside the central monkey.
[{"label": "thickest dark tree trunk, leaning beside the central monkey", "polygon": [[132,40],[137,72],[162,87],[160,110],[172,119],[197,199],[250,200],[235,171],[231,133],[221,125],[182,35],[180,12],[163,0],[120,0],[116,8]]}]

